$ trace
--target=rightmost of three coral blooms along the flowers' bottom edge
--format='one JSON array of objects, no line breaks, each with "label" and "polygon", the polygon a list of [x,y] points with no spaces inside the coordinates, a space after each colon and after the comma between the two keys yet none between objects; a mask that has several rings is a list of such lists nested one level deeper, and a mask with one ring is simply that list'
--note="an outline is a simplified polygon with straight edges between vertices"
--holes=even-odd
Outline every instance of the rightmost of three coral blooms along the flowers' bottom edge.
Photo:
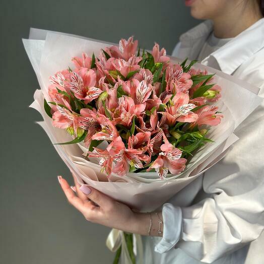
[{"label": "rightmost of three coral blooms along the flowers' bottom edge", "polygon": [[186,159],[181,158],[182,151],[170,144],[165,135],[163,139],[165,144],[160,146],[162,152],[159,153],[159,157],[147,170],[150,171],[154,168],[161,179],[166,177],[168,171],[175,175],[179,174],[185,169],[185,163],[187,162]]}]

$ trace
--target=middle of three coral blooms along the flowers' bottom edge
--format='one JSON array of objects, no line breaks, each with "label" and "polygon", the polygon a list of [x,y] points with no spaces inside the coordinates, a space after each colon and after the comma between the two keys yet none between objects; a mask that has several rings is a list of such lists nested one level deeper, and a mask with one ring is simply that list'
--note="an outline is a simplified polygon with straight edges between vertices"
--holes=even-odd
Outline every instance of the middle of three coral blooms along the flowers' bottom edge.
[{"label": "middle of three coral blooms along the flowers' bottom edge", "polygon": [[135,168],[143,168],[140,161],[142,150],[126,149],[121,137],[117,137],[108,147],[107,151],[110,156],[116,161],[113,172],[124,176],[129,171],[129,165]]}]

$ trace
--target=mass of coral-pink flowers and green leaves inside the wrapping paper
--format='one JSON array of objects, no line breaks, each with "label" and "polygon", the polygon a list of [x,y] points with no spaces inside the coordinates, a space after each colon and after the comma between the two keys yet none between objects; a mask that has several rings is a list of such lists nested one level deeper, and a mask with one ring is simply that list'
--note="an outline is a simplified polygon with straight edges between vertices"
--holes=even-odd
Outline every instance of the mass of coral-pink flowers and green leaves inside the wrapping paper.
[{"label": "mass of coral-pink flowers and green leaves inside the wrapping paper", "polygon": [[[210,103],[221,88],[213,75],[191,68],[195,61],[172,63],[157,43],[151,53],[137,46],[130,37],[98,57],[73,57],[75,68],[49,78],[44,108],[55,127],[75,137],[60,144],[83,142],[85,155],[100,158],[108,177],[156,170],[164,179],[182,172],[187,158],[212,142],[208,129],[223,115]],[[106,149],[97,147],[103,141]]]}]

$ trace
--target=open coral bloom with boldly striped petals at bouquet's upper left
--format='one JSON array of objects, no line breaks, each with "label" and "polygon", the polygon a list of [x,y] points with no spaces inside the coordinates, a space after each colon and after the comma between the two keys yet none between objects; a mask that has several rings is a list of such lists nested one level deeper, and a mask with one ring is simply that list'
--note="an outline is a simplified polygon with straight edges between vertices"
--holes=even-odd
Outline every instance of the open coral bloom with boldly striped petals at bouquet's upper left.
[{"label": "open coral bloom with boldly striped petals at bouquet's upper left", "polygon": [[84,100],[84,102],[88,104],[102,93],[102,90],[96,88],[95,84],[95,72],[93,70],[81,68],[78,73],[72,73],[69,88],[78,99]]}]

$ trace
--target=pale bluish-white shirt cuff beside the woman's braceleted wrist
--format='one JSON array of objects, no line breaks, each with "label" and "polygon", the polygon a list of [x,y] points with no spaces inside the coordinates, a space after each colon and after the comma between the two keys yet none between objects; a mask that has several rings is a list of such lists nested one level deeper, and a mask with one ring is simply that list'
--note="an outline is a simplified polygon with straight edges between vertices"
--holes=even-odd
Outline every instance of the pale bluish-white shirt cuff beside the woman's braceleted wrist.
[{"label": "pale bluish-white shirt cuff beside the woman's braceleted wrist", "polygon": [[182,234],[181,208],[172,204],[164,204],[162,207],[163,237],[155,246],[155,251],[164,253],[170,250],[180,240]]}]

